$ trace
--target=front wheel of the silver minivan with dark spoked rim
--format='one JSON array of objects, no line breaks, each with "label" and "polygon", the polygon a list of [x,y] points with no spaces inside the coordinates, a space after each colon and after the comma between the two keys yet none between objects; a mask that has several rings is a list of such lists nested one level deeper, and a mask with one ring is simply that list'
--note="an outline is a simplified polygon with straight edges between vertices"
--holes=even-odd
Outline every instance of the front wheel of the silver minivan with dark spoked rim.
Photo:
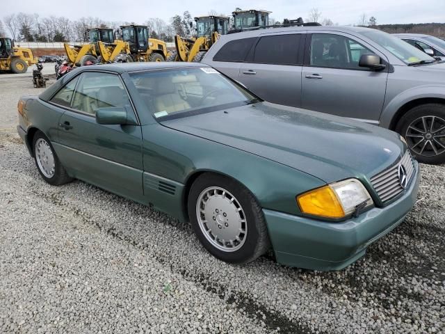
[{"label": "front wheel of the silver minivan with dark spoked rim", "polygon": [[396,131],[423,164],[445,163],[445,105],[415,106],[399,120]]}]

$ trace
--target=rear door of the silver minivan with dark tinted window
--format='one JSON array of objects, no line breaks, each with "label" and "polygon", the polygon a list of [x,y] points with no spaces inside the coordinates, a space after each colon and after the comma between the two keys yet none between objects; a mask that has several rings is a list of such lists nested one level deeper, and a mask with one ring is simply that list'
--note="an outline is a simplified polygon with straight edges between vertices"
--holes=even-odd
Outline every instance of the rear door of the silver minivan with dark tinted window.
[{"label": "rear door of the silver minivan with dark tinted window", "polygon": [[302,48],[305,31],[261,35],[241,63],[239,81],[268,102],[301,104]]}]

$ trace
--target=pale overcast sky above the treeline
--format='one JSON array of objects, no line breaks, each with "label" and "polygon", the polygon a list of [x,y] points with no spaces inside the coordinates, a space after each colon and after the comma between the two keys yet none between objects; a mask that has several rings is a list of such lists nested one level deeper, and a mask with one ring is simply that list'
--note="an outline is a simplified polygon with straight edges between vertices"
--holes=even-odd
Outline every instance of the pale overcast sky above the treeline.
[{"label": "pale overcast sky above the treeline", "polygon": [[40,16],[65,16],[77,19],[82,16],[99,17],[104,21],[142,23],[149,17],[160,17],[170,22],[170,17],[188,10],[193,17],[207,15],[209,11],[230,15],[236,7],[264,9],[273,12],[277,21],[309,16],[311,8],[321,10],[322,17],[339,24],[357,24],[359,16],[377,18],[378,24],[445,22],[445,0],[76,0],[76,1],[6,1],[14,6],[2,6],[0,17],[17,11],[38,13]]}]

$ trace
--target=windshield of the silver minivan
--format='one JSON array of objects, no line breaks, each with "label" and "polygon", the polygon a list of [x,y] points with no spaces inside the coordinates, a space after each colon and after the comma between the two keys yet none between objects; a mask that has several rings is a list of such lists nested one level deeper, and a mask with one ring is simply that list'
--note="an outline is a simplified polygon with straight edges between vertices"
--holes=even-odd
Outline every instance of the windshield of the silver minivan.
[{"label": "windshield of the silver minivan", "polygon": [[383,31],[374,29],[369,31],[361,31],[360,33],[373,40],[378,45],[385,47],[385,49],[391,52],[391,54],[394,54],[394,56],[399,58],[407,65],[421,62],[430,63],[435,61],[435,59],[428,56],[428,54],[416,49],[416,47],[404,42],[400,38],[389,35],[389,33],[384,33]]}]

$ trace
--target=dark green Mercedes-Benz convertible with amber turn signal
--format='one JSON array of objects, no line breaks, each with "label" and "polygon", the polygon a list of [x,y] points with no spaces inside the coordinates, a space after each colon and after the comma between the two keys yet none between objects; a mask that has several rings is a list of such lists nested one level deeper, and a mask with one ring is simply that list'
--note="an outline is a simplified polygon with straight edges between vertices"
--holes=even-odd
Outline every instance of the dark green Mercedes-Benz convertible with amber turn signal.
[{"label": "dark green Mercedes-Benz convertible with amber turn signal", "polygon": [[226,262],[271,247],[282,264],[342,269],[419,186],[395,132],[264,102],[199,63],[80,67],[18,111],[49,184],[76,178],[191,221]]}]

